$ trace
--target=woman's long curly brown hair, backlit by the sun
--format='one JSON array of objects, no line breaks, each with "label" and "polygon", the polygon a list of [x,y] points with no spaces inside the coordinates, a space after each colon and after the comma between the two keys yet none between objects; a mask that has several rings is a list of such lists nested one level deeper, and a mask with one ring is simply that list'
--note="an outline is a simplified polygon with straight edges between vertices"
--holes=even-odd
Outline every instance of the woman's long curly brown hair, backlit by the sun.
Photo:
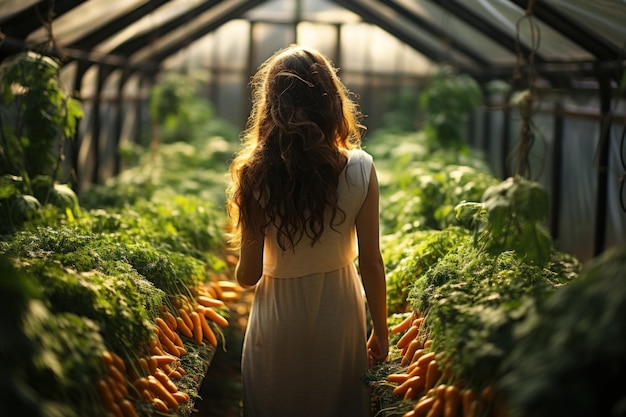
[{"label": "woman's long curly brown hair, backlit by the sun", "polygon": [[[291,45],[276,52],[251,86],[242,148],[230,165],[231,243],[240,247],[243,229],[264,234],[273,224],[283,250],[305,235],[314,245],[327,210],[331,227],[345,218],[337,206],[337,184],[345,151],[361,144],[362,114],[337,69],[313,49]],[[258,204],[262,220],[252,215]]]}]

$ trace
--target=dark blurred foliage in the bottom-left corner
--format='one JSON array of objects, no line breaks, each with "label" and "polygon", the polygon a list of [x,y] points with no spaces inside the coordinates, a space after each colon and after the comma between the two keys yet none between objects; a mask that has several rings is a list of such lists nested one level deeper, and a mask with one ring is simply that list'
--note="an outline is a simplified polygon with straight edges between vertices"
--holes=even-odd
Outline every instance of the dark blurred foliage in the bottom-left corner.
[{"label": "dark blurred foliage in the bottom-left corner", "polygon": [[0,415],[96,415],[90,378],[104,349],[97,323],[53,314],[41,284],[0,256]]}]

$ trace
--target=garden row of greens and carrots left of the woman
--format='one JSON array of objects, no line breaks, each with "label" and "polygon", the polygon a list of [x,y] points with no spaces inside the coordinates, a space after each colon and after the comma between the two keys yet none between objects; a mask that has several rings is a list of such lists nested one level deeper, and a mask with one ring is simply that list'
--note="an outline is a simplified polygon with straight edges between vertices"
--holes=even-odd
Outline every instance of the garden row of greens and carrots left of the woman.
[{"label": "garden row of greens and carrots left of the woman", "polygon": [[82,116],[58,66],[19,55],[1,76],[0,415],[190,415],[242,296],[224,242],[236,133],[205,104],[202,137],[164,124],[158,149],[127,152],[133,168],[79,201],[58,180]]}]

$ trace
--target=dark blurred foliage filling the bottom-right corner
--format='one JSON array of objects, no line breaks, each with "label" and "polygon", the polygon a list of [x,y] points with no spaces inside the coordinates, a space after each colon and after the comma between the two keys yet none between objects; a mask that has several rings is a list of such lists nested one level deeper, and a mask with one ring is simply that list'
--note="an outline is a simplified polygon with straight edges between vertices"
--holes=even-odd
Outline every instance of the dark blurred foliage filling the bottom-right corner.
[{"label": "dark blurred foliage filling the bottom-right corner", "polygon": [[511,415],[626,415],[625,270],[624,248],[605,252],[515,326],[498,381]]}]

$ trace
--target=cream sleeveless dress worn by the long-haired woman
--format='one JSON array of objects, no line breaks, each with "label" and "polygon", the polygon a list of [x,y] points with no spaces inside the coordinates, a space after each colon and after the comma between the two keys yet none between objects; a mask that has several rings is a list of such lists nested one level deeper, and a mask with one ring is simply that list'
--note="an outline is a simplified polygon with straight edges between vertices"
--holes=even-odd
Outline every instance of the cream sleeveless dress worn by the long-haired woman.
[{"label": "cream sleeveless dress worn by the long-haired woman", "polygon": [[311,247],[283,252],[265,238],[242,356],[245,417],[364,417],[370,394],[365,302],[354,260],[355,219],[367,195],[372,158],[350,151],[339,177],[345,221]]}]

